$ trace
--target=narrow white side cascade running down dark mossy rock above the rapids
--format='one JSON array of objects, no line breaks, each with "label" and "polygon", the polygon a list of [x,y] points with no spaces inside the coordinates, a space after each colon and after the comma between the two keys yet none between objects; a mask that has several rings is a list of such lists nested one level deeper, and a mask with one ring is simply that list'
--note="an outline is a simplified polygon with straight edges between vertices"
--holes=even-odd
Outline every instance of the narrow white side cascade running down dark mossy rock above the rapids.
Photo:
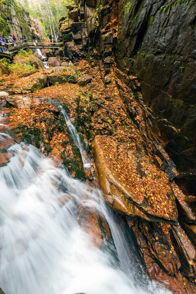
[{"label": "narrow white side cascade running down dark mossy rock above the rapids", "polygon": [[91,164],[87,162],[87,160],[86,160],[86,158],[85,158],[85,156],[83,154],[84,149],[83,149],[83,147],[81,145],[80,137],[78,135],[78,132],[77,132],[76,128],[74,127],[73,123],[71,123],[70,118],[69,118],[67,112],[65,111],[65,109],[61,105],[58,106],[58,108],[60,109],[60,112],[64,117],[64,120],[65,120],[65,122],[67,124],[67,128],[68,128],[68,130],[69,130],[69,132],[70,132],[70,134],[71,134],[71,136],[73,138],[73,142],[74,142],[75,146],[77,146],[79,151],[80,151],[84,168],[85,169],[90,168]]}]

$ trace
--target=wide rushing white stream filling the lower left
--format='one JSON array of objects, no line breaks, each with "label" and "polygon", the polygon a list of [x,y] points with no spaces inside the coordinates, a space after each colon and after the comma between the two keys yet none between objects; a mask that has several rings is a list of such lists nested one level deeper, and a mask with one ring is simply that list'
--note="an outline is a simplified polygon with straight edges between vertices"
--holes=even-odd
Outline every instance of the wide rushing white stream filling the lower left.
[{"label": "wide rushing white stream filling the lower left", "polygon": [[[76,130],[65,120],[82,153]],[[132,274],[123,272],[126,243],[98,189],[71,178],[37,148],[9,142],[9,135],[0,133],[0,145],[13,153],[0,168],[0,287],[5,294],[169,293],[142,273],[135,280],[134,264]],[[109,222],[120,266],[78,225],[76,206],[86,199]]]}]

